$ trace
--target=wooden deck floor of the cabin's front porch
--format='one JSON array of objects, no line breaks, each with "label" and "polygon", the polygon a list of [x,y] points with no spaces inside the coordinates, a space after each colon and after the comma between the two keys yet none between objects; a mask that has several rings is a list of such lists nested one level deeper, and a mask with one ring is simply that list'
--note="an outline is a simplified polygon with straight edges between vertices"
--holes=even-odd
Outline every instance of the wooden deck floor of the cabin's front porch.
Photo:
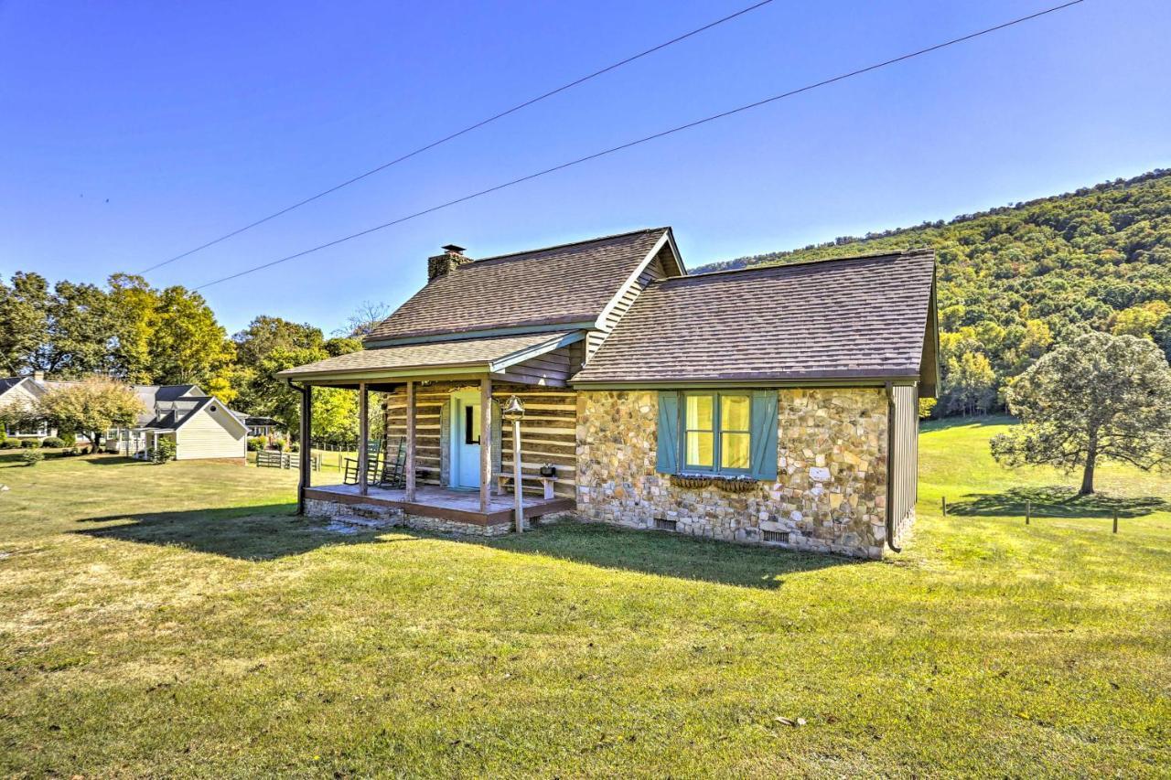
[{"label": "wooden deck floor of the cabin's front porch", "polygon": [[[456,491],[445,487],[420,485],[415,491],[415,501],[406,500],[406,491],[386,487],[369,487],[362,495],[357,485],[314,485],[304,491],[307,499],[334,501],[337,504],[374,504],[376,506],[402,508],[406,514],[424,518],[440,518],[480,526],[507,525],[513,522],[513,497],[492,495],[487,512],[480,512],[480,494],[477,491]],[[540,495],[523,495],[526,518],[574,509],[573,499],[545,499]]]}]

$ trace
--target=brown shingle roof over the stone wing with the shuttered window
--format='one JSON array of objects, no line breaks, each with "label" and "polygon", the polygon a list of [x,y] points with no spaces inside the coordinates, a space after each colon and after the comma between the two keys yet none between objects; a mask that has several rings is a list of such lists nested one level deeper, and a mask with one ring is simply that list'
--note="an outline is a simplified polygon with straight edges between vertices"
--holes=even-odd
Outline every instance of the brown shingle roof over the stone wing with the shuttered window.
[{"label": "brown shingle roof over the stone wing with the shuttered window", "polygon": [[917,376],[933,278],[913,252],[655,282],[571,382]]}]

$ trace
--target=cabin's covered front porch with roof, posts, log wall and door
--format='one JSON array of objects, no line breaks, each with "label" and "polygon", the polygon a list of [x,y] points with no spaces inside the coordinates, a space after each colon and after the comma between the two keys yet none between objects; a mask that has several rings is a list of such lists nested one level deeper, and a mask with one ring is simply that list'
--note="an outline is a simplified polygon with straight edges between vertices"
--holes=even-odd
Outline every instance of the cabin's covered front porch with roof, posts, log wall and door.
[{"label": "cabin's covered front porch with roof, posts, log wall and door", "polygon": [[[500,533],[509,525],[520,527],[518,508],[526,520],[574,509],[575,402],[566,379],[580,342],[577,333],[546,331],[391,345],[280,372],[301,394],[299,511],[344,514],[345,507],[381,508],[415,525],[430,518],[444,531],[466,526],[467,533]],[[314,477],[320,478],[306,467],[313,388],[358,395],[356,484],[313,484]],[[371,394],[383,395],[381,447],[363,446],[371,440]],[[540,435],[522,432],[514,438],[512,425],[501,425],[500,405],[513,395],[532,403],[534,416],[527,427]],[[375,464],[379,451],[388,452],[384,463],[392,463],[391,449],[402,450],[402,456],[393,479],[388,479]],[[548,470],[554,461],[559,473],[541,477],[542,467]],[[516,472],[522,488],[519,507]]]}]

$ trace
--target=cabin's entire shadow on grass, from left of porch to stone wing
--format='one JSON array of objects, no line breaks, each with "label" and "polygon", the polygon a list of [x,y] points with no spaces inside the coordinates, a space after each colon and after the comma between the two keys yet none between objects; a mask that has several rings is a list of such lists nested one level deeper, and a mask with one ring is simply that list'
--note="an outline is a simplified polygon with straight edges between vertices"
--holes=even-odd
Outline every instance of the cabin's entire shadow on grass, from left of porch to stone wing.
[{"label": "cabin's entire shadow on grass, from left of porch to stone wing", "polygon": [[[382,531],[331,525],[302,518],[295,504],[253,507],[153,512],[78,520],[81,524],[116,524],[73,533],[94,539],[160,547],[179,547],[242,561],[272,561],[301,555],[331,545],[386,543]],[[341,531],[344,529],[344,531]],[[603,525],[562,522],[537,527],[522,535],[446,536],[395,528],[396,535],[444,539],[511,553],[555,557],[574,563],[656,574],[746,588],[778,589],[785,577],[831,566],[858,566],[834,555],[793,553],[733,545],[650,531]],[[392,563],[391,563],[392,565]]]}]

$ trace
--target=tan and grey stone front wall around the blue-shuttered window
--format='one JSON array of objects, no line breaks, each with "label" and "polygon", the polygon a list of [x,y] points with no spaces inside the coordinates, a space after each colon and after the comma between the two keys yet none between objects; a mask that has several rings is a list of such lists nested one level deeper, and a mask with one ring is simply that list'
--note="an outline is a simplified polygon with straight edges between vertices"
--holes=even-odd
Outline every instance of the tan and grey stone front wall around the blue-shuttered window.
[{"label": "tan and grey stone front wall around the blue-shuttered window", "polygon": [[[882,388],[779,390],[778,480],[745,493],[687,490],[656,472],[658,394],[577,396],[577,512],[586,520],[881,557],[886,396]],[[762,532],[773,532],[765,541]],[[783,536],[787,534],[787,536]]]}]

